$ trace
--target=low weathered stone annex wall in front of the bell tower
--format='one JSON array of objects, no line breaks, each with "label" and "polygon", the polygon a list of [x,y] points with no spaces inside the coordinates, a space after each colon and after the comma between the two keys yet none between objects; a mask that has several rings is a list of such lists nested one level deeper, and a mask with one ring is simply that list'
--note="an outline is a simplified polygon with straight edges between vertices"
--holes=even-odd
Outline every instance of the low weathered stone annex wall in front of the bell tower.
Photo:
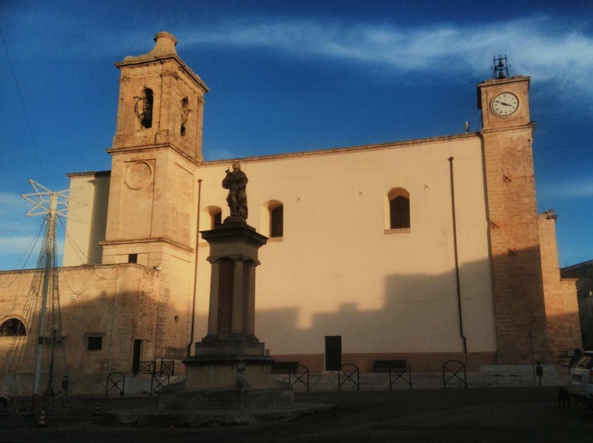
[{"label": "low weathered stone annex wall in front of the bell tower", "polygon": [[[25,295],[34,271],[0,272],[14,284],[0,289],[0,322],[23,319]],[[141,360],[161,355],[157,342],[159,272],[138,264],[79,266],[59,273],[60,306],[68,368],[72,374],[132,371],[134,339],[141,339]],[[37,331],[28,329],[34,338]],[[101,349],[89,350],[88,337],[103,338]],[[0,359],[12,337],[0,337]],[[183,346],[183,345],[181,345]]]}]

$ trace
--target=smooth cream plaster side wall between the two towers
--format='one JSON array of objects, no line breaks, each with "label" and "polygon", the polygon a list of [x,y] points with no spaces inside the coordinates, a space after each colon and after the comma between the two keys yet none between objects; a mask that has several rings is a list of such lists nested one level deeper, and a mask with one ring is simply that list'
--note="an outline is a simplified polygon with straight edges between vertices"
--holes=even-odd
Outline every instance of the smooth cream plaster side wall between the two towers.
[{"label": "smooth cream plaster side wall between the two towers", "polygon": [[[449,179],[455,204],[468,351],[496,351],[482,150],[477,136],[243,162],[248,223],[261,206],[284,204],[282,242],[260,249],[256,335],[273,354],[323,353],[341,335],[343,352],[463,351]],[[197,169],[201,207],[222,208],[230,165]],[[384,233],[385,195],[410,192],[410,233]],[[299,201],[300,200],[300,201]],[[202,211],[200,229],[210,229]],[[210,265],[199,250],[196,339],[206,333]]]}]

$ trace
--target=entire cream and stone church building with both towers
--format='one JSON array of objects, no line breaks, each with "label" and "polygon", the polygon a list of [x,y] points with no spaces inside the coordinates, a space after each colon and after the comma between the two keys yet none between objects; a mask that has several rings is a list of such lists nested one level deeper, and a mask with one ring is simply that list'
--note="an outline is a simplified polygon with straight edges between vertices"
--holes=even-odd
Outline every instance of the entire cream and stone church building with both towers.
[{"label": "entire cream and stone church building with both towers", "polygon": [[[116,63],[111,171],[69,174],[88,203],[69,214],[59,280],[71,373],[104,380],[174,359],[183,374],[221,284],[199,232],[229,216],[221,182],[234,162],[248,177],[247,223],[268,237],[255,334],[277,360],[311,373],[396,358],[413,372],[449,359],[479,371],[581,347],[557,216],[536,208],[529,77],[477,85],[477,132],[205,162],[208,86],[176,38],[155,41]],[[20,272],[0,289],[0,353],[30,333],[21,308],[33,272]]]}]

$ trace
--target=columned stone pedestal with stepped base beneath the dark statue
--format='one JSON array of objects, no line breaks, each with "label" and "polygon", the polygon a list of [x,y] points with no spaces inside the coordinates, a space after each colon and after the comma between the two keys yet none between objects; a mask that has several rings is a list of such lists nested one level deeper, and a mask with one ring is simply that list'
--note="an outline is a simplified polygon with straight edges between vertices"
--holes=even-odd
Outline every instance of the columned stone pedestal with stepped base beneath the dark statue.
[{"label": "columned stone pedestal with stepped base beneath the dark statue", "polygon": [[270,377],[274,361],[254,335],[257,250],[267,238],[245,222],[202,231],[211,245],[208,335],[186,358],[184,383],[163,387],[159,409],[259,409],[291,406],[293,391]]}]

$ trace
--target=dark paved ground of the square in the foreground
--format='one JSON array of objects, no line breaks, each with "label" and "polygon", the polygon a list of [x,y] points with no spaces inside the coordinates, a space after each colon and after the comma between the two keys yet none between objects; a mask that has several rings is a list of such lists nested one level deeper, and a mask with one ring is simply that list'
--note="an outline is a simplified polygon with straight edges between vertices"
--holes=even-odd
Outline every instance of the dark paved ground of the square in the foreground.
[{"label": "dark paved ground of the square in the foreground", "polygon": [[[33,428],[0,418],[1,442],[572,442],[590,441],[593,411],[559,409],[554,387],[490,387],[441,390],[323,391],[296,393],[297,402],[333,403],[337,409],[282,423],[214,428],[111,428],[85,410],[47,417]],[[101,409],[155,407],[146,397],[99,399]]]}]

